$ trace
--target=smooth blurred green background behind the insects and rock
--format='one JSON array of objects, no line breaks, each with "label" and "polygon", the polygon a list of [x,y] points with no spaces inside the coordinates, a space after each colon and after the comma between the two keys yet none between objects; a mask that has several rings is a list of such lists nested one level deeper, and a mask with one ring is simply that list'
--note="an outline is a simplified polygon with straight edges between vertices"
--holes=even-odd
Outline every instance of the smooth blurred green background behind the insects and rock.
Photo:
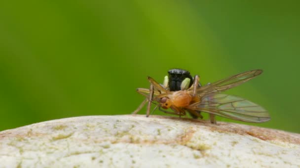
[{"label": "smooth blurred green background behind the insects and rock", "polygon": [[270,112],[254,125],[300,133],[297,2],[2,0],[0,131],[130,114],[147,76],[162,83],[170,68],[183,68],[202,84],[263,69],[226,93]]}]

